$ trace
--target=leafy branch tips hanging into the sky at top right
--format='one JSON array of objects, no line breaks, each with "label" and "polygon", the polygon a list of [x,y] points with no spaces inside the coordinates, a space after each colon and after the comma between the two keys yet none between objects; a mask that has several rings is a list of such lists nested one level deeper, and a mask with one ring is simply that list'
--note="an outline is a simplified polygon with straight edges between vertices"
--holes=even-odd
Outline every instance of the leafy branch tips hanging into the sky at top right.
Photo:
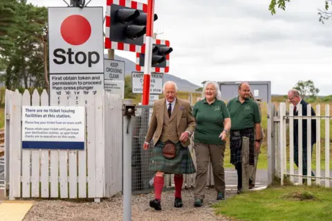
[{"label": "leafy branch tips hanging into the sky at top right", "polygon": [[[272,15],[275,15],[275,8],[278,7],[282,10],[286,9],[286,1],[290,2],[291,0],[270,0],[270,6],[268,10],[271,11]],[[332,6],[332,0],[325,0],[324,9],[318,9],[318,15],[320,15],[320,21],[324,24],[324,20],[331,19],[332,12],[329,11],[329,5]]]}]

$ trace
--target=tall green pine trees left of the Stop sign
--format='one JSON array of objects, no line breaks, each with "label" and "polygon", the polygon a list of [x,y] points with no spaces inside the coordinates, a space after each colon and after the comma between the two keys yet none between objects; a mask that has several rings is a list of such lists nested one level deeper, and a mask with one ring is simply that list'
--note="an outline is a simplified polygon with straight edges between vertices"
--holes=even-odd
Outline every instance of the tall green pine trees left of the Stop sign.
[{"label": "tall green pine trees left of the Stop sign", "polygon": [[47,9],[27,4],[26,0],[15,2],[15,26],[10,26],[10,44],[2,48],[0,57],[6,67],[6,88],[48,88]]}]

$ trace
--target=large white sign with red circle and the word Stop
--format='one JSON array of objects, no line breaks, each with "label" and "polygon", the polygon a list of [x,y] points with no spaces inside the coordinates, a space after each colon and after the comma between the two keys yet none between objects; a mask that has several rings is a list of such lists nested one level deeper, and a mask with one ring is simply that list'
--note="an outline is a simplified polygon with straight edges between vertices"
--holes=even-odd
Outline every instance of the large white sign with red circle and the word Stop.
[{"label": "large white sign with red circle and the word Stop", "polygon": [[103,73],[102,7],[48,8],[50,73]]}]

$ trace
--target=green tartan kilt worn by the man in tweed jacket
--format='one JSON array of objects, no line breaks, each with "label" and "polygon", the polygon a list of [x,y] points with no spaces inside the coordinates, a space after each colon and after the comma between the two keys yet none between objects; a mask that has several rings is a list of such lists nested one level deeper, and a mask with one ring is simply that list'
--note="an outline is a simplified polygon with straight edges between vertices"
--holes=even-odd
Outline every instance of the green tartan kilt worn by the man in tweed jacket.
[{"label": "green tartan kilt worn by the man in tweed jacket", "polygon": [[166,159],[163,156],[164,143],[158,141],[154,146],[150,160],[150,170],[165,174],[193,174],[196,173],[192,155],[188,148],[183,147],[181,142],[176,143],[177,156],[174,159]]}]

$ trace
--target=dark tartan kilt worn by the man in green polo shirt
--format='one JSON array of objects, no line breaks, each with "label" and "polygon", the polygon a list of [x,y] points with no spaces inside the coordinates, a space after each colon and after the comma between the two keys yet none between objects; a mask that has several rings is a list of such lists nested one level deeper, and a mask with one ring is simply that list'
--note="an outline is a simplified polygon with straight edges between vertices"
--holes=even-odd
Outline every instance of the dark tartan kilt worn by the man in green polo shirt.
[{"label": "dark tartan kilt worn by the man in green polo shirt", "polygon": [[[255,134],[251,133],[241,133],[241,139],[243,136],[249,138],[249,165],[255,165]],[[241,151],[242,147],[234,147],[234,142],[232,142],[232,131],[230,132],[230,163],[233,165],[237,163],[242,163]]]}]

